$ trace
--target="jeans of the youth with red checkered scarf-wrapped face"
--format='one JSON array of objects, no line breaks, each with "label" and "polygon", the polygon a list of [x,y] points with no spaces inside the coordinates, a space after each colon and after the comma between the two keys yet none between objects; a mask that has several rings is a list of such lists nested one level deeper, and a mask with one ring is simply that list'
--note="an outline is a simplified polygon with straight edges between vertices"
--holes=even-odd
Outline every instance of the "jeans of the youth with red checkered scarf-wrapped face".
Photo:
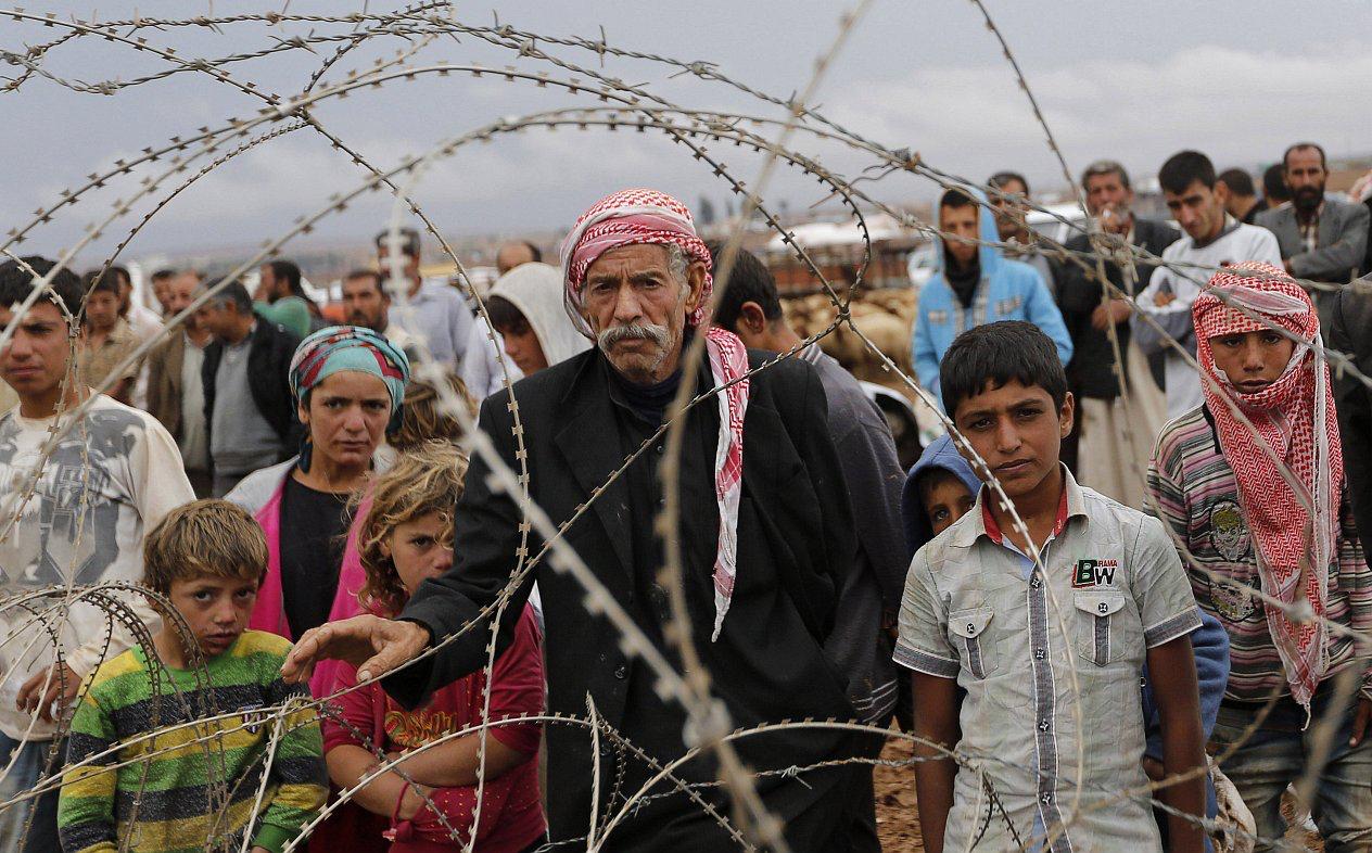
[{"label": "jeans of the youth with red checkered scarf-wrapped face", "polygon": [[[1332,698],[1334,679],[1325,679],[1310,702],[1310,725],[1301,731],[1305,709],[1283,697],[1262,727],[1220,765],[1253,812],[1262,839],[1258,850],[1273,849],[1270,845],[1280,843],[1286,834],[1281,791],[1306,773],[1317,749],[1313,739],[1327,719]],[[1327,853],[1372,852],[1372,732],[1367,732],[1356,749],[1349,747],[1357,699],[1354,694],[1347,708],[1336,709],[1338,734],[1318,769],[1310,808]],[[1221,705],[1211,743],[1221,749],[1235,743],[1261,708],[1261,704]]]}]

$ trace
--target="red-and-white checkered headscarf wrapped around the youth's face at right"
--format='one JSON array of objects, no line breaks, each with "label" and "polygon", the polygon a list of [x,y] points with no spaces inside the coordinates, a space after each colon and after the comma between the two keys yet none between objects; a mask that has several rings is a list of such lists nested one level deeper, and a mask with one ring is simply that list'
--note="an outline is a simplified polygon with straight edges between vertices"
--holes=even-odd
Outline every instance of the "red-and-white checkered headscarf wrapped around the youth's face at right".
[{"label": "red-and-white checkered headscarf wrapped around the youth's face at right", "polygon": [[[1329,664],[1324,613],[1329,561],[1338,555],[1343,488],[1343,447],[1320,320],[1310,296],[1295,280],[1259,262],[1217,272],[1196,298],[1191,315],[1196,361],[1218,385],[1216,389],[1203,381],[1202,389],[1220,447],[1239,484],[1262,588],[1284,605],[1305,599],[1313,610],[1313,618],[1297,616],[1294,621],[1281,606],[1265,606],[1291,695],[1309,708]],[[1216,368],[1210,339],[1272,328],[1253,315],[1290,332],[1295,350],[1276,381],[1243,394]],[[1251,421],[1251,429],[1235,417],[1231,405]],[[1283,469],[1290,476],[1283,476]]]}]

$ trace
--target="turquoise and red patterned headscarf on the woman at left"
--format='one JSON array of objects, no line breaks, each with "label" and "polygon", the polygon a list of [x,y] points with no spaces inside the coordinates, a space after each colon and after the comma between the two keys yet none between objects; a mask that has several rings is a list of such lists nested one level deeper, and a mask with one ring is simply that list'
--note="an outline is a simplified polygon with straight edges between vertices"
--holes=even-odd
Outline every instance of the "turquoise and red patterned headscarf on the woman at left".
[{"label": "turquoise and red patterned headscarf on the woman at left", "polygon": [[[391,395],[391,424],[398,422],[410,381],[410,359],[383,335],[364,326],[328,326],[300,341],[291,357],[291,394],[299,405],[316,385],[340,370],[370,373]],[[310,431],[300,439],[300,470],[310,470]]]}]

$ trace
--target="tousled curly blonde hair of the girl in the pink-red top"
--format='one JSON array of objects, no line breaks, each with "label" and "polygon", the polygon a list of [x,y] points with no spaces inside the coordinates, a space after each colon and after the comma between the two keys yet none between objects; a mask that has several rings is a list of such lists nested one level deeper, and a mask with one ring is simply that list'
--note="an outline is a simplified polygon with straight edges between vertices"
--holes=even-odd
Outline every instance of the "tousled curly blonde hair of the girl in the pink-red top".
[{"label": "tousled curly blonde hair of the girl in the pink-red top", "polygon": [[401,454],[395,465],[375,480],[370,492],[357,498],[359,505],[370,501],[357,535],[358,557],[366,573],[366,581],[357,591],[362,608],[384,614],[405,608],[409,592],[381,544],[397,525],[434,512],[443,513],[451,535],[453,512],[462,496],[465,476],[466,454],[447,442],[425,442]]}]

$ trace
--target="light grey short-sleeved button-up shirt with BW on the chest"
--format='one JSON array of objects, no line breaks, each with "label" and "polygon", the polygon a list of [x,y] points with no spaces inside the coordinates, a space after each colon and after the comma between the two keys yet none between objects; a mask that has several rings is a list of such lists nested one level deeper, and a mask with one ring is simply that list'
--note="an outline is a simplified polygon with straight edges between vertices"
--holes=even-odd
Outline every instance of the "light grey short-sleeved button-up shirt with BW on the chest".
[{"label": "light grey short-sleeved button-up shirt with BW on the chest", "polygon": [[1002,536],[985,490],[910,568],[895,658],[967,691],[948,849],[1041,849],[1045,828],[1054,853],[1161,849],[1147,797],[1124,797],[1147,786],[1139,679],[1148,649],[1200,618],[1162,524],[1063,476],[1047,573]]}]

